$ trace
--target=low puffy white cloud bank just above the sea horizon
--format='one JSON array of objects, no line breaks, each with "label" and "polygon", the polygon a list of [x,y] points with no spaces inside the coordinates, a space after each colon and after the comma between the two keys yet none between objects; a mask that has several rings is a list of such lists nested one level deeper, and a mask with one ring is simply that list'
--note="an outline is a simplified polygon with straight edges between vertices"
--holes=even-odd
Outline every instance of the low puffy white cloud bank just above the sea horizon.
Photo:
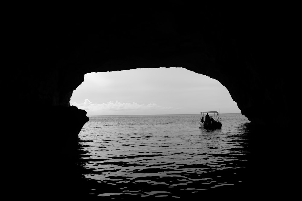
[{"label": "low puffy white cloud bank just above the sea horizon", "polygon": [[[156,103],[149,103],[148,105],[138,104],[136,102],[132,103],[121,103],[107,102],[107,103],[92,103],[88,99],[85,99],[83,103],[70,102],[70,105],[74,105],[79,109],[87,111],[87,115],[107,115],[114,114],[117,112],[122,112],[123,114],[132,111],[133,114],[148,114],[148,111],[168,111],[172,110],[173,107],[162,107],[158,106]],[[129,113],[130,114],[130,113]]]}]

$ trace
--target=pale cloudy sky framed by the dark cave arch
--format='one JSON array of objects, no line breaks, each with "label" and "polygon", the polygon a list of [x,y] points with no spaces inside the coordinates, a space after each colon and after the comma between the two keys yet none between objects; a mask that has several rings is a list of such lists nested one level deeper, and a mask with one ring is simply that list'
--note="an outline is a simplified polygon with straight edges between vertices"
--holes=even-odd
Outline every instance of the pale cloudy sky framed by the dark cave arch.
[{"label": "pale cloudy sky framed by the dark cave arch", "polygon": [[70,105],[88,116],[241,113],[219,81],[174,67],[85,74]]}]

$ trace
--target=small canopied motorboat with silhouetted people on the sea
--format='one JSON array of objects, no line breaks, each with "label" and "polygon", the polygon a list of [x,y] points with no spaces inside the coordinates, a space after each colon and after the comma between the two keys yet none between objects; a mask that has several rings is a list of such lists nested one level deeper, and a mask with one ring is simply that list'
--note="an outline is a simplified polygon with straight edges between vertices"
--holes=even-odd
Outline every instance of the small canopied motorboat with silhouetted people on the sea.
[{"label": "small canopied motorboat with silhouetted people on the sea", "polygon": [[[205,119],[204,119],[204,114],[210,114],[210,115],[208,118],[207,118],[207,115],[205,115]],[[213,115],[214,115],[214,118],[213,118]],[[221,129],[221,127],[222,127],[222,124],[220,122],[219,113],[217,111],[201,112],[199,124],[200,124],[201,128],[205,128],[205,129]]]}]

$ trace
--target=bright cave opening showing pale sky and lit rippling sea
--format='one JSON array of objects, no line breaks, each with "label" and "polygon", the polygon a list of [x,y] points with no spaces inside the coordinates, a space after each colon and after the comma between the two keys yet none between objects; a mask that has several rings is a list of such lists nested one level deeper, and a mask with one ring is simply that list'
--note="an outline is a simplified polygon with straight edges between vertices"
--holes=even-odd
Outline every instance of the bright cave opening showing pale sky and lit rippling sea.
[{"label": "bright cave opening showing pale sky and lit rippling sea", "polygon": [[[188,181],[192,188],[212,188],[204,183],[212,180],[206,175],[233,178],[234,174],[204,171],[212,171],[209,161],[216,162],[221,152],[241,153],[244,148],[235,133],[244,133],[245,128],[238,127],[236,121],[247,120],[238,114],[240,110],[229,91],[219,81],[185,68],[88,73],[73,92],[70,104],[87,111],[90,119],[79,133],[78,164],[85,170],[83,189],[91,196],[105,197],[109,191],[119,196],[129,189],[141,191],[141,186],[147,191],[141,193],[143,196],[149,191],[177,194],[184,180],[175,178],[182,177],[179,171],[183,169],[183,176],[190,174],[194,181],[203,182],[193,185]],[[228,118],[233,123],[225,125],[224,130],[204,130],[198,120],[199,112],[206,110],[235,113],[225,116],[225,121]],[[243,180],[240,176],[238,179]]]}]

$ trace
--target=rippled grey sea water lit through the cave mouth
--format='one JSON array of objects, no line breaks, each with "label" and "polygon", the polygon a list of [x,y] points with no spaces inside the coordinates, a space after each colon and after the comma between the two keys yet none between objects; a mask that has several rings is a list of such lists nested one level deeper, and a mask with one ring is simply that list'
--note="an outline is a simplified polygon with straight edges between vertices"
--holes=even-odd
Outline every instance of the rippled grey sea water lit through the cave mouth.
[{"label": "rippled grey sea water lit through the cave mouth", "polygon": [[90,197],[184,198],[242,190],[249,174],[248,119],[221,114],[204,130],[200,115],[90,116],[77,164]]}]

